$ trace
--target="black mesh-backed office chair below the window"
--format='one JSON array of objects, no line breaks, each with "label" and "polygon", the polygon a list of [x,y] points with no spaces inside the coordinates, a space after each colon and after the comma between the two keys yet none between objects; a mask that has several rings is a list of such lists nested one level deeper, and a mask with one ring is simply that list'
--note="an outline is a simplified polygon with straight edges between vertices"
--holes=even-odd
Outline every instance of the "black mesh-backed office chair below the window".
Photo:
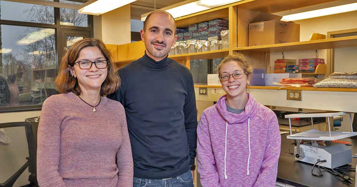
[{"label": "black mesh-backed office chair below the window", "polygon": [[[12,187],[27,167],[30,173],[28,178],[29,184],[17,184],[17,186],[37,187],[36,146],[31,124],[29,122],[0,123],[0,129],[2,129],[1,140],[3,141],[0,142],[0,157],[2,157],[0,159],[0,176],[2,176],[2,178],[0,177],[0,179],[5,180],[5,182],[0,181],[0,187]],[[25,142],[25,136],[27,145]],[[28,147],[28,157],[26,151],[26,155],[22,159],[22,154],[24,154],[23,149],[26,149],[26,147]],[[17,166],[13,165],[18,165],[19,162],[21,162],[19,161],[19,158],[25,162],[25,164],[21,166],[20,163],[21,167],[16,171]],[[5,166],[7,166],[7,168]],[[15,170],[11,171],[13,169]],[[14,173],[12,174],[10,172]],[[8,178],[4,179],[4,177]]]}]

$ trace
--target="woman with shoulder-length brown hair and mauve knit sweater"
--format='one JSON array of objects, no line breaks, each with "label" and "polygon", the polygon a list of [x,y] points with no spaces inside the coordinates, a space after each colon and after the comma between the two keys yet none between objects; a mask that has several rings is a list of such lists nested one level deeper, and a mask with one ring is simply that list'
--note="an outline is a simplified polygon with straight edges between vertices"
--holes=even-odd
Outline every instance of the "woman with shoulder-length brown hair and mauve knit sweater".
[{"label": "woman with shoulder-length brown hair and mauve knit sweater", "polygon": [[120,85],[101,40],[77,41],[63,56],[56,89],[42,105],[37,134],[40,187],[133,184],[124,107],[104,95]]}]

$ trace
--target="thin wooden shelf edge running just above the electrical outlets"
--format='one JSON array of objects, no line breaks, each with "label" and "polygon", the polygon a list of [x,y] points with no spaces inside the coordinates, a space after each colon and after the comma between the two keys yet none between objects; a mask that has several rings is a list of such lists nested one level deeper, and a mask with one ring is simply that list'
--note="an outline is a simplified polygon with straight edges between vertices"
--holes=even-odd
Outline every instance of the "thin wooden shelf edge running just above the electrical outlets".
[{"label": "thin wooden shelf edge running just above the electrical outlets", "polygon": [[[195,88],[222,88],[221,85],[199,85],[199,84],[195,84],[194,87]],[[268,89],[268,90],[306,90],[306,91],[328,91],[328,92],[357,92],[357,88],[315,88],[315,87],[280,88],[280,87],[277,87],[277,86],[248,86],[247,88],[248,89]]]}]

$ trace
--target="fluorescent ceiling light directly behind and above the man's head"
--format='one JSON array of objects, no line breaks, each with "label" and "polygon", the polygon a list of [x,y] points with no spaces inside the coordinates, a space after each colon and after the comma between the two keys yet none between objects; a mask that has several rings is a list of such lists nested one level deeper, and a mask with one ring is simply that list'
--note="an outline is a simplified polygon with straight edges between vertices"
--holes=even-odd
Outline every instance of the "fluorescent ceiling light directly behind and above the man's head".
[{"label": "fluorescent ceiling light directly behind and above the man's head", "polygon": [[[162,8],[160,10],[165,10],[170,13],[174,18],[179,18],[181,16],[197,13],[200,11],[216,8],[218,6],[223,6],[231,3],[235,3],[242,0],[199,0],[195,2],[191,2],[192,0],[188,0],[187,4],[178,3],[175,5],[168,6],[166,8]],[[189,3],[191,2],[191,3]],[[150,13],[141,15],[141,21],[145,21],[146,16]]]}]

